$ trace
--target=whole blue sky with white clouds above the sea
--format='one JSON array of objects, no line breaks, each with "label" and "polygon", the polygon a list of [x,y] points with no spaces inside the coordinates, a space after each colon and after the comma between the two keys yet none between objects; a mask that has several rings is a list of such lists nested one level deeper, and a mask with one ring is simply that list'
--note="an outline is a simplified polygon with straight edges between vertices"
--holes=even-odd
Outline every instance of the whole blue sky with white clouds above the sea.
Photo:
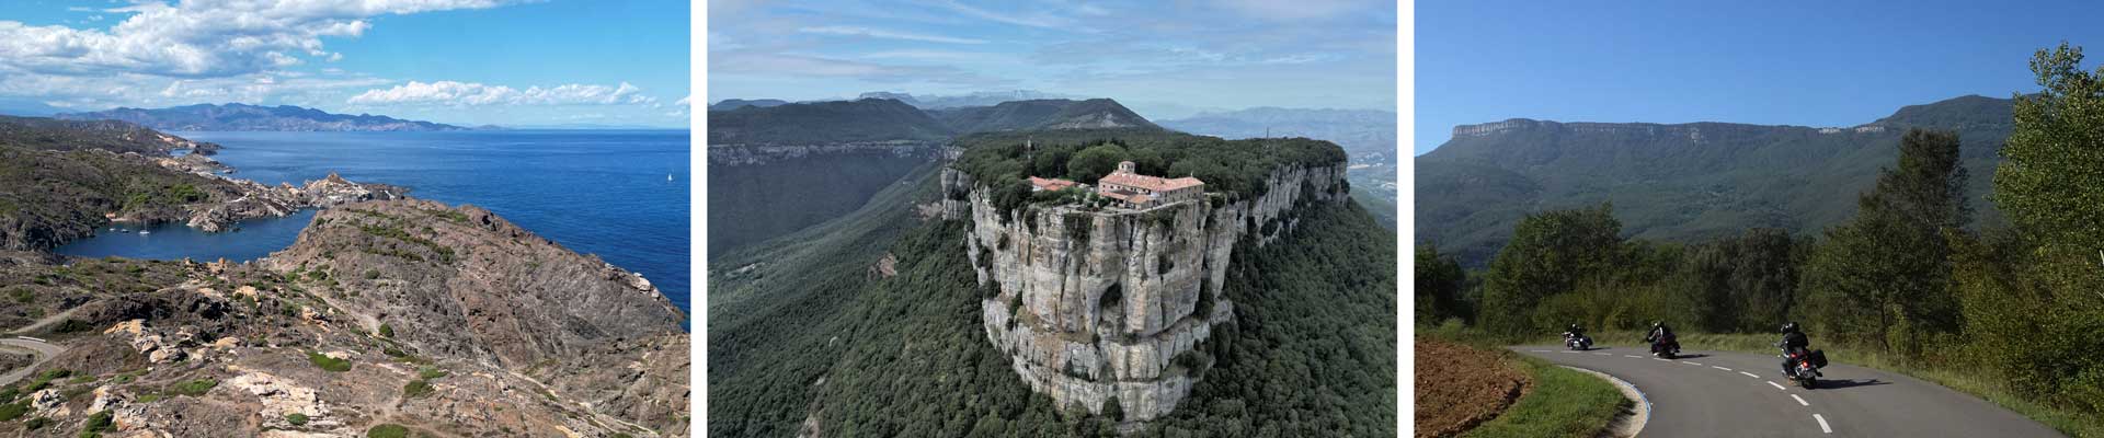
[{"label": "whole blue sky with white clouds above the sea", "polygon": [[686,126],[688,11],[665,0],[17,0],[0,4],[0,101]]}]

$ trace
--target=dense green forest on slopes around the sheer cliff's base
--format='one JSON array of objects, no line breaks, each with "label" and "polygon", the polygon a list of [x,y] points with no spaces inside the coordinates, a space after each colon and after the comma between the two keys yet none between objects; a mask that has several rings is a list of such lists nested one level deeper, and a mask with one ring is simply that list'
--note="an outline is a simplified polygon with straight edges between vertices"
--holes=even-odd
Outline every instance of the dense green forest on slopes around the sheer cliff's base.
[{"label": "dense green forest on slopes around the sheer cliff's base", "polygon": [[[1031,392],[987,341],[970,223],[911,213],[945,196],[934,177],[711,261],[711,436],[1115,436]],[[1395,234],[1357,204],[1296,215],[1283,240],[1237,244],[1222,288],[1237,318],[1208,343],[1208,379],[1138,436],[1393,436]],[[896,276],[871,270],[886,255]]]}]

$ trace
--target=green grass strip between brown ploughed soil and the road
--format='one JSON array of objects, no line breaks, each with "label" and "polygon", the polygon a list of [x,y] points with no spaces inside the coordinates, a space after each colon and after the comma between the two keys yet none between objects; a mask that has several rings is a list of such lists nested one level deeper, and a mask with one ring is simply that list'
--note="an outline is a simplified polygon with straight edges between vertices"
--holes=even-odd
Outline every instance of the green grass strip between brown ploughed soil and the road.
[{"label": "green grass strip between brown ploughed soil and the road", "polygon": [[1614,415],[1635,406],[1622,398],[1622,390],[1599,377],[1549,364],[1546,360],[1517,356],[1519,364],[1534,375],[1534,392],[1521,396],[1517,404],[1496,419],[1490,419],[1466,438],[1504,436],[1599,436],[1614,421]]}]

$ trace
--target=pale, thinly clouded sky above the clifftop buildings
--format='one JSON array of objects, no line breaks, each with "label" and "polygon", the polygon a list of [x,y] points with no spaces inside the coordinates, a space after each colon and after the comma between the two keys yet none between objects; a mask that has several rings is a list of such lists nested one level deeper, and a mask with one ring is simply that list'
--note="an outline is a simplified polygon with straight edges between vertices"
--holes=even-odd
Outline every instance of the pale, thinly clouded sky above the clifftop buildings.
[{"label": "pale, thinly clouded sky above the clifftop buildings", "polygon": [[1395,2],[709,2],[709,97],[869,91],[1111,97],[1199,110],[1395,110]]}]

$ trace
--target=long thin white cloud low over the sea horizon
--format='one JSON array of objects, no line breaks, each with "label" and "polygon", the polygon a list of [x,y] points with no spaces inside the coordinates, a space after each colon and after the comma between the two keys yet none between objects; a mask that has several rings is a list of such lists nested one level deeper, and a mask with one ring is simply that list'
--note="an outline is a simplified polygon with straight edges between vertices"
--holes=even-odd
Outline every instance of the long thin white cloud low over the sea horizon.
[{"label": "long thin white cloud low over the sea horizon", "polygon": [[642,88],[621,82],[604,84],[562,84],[553,88],[528,86],[526,91],[478,84],[478,82],[417,82],[393,88],[372,88],[349,99],[351,105],[650,105],[654,97]]}]

